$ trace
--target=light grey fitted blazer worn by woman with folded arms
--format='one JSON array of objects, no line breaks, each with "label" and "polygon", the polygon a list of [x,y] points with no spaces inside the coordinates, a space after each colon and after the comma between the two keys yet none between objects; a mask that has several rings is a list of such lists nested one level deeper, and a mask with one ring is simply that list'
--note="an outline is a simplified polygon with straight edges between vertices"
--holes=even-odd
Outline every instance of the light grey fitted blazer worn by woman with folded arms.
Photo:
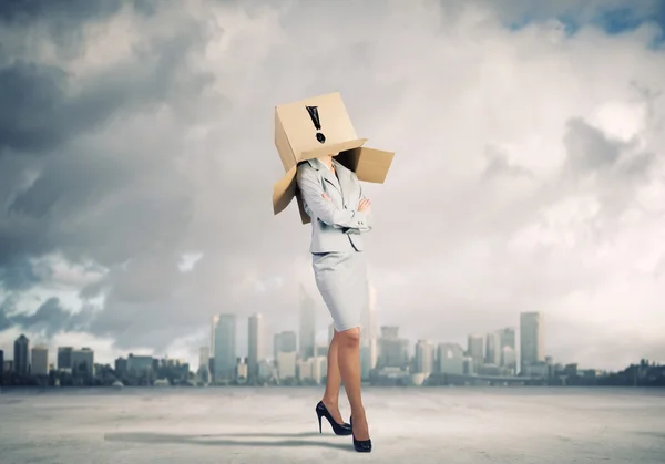
[{"label": "light grey fitted blazer worn by woman with folded arms", "polygon": [[[311,252],[362,251],[360,234],[371,230],[371,215],[357,210],[364,198],[360,182],[332,158],[337,176],[319,159],[298,165],[297,183],[311,218]],[[339,177],[339,181],[338,181]],[[330,199],[323,197],[327,194]]]}]

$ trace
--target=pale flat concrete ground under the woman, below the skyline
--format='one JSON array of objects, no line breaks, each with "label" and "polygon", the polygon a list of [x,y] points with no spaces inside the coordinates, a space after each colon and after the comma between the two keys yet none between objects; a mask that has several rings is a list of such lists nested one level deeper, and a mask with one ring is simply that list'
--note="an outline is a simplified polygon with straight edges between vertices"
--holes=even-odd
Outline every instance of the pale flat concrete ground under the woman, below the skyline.
[{"label": "pale flat concrete ground under the woman, below the skyline", "polygon": [[371,454],[318,433],[320,392],[6,390],[0,463],[665,463],[663,391],[368,389]]}]

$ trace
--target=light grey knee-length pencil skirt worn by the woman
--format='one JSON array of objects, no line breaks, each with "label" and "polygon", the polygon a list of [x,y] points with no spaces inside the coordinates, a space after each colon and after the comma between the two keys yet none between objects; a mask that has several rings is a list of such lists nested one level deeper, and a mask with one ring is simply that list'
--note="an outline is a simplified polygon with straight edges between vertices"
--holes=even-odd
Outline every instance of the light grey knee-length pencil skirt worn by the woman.
[{"label": "light grey knee-length pencil skirt worn by the woman", "polygon": [[338,332],[361,327],[361,318],[369,305],[364,255],[361,251],[311,255],[316,286]]}]

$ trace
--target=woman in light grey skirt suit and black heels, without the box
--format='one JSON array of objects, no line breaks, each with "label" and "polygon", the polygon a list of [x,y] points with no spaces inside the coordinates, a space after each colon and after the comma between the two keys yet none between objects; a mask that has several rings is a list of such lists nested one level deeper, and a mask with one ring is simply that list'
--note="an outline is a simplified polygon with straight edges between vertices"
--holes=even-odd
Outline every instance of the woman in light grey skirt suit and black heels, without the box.
[{"label": "woman in light grey skirt suit and black heels, without the box", "polygon": [[[311,218],[316,285],[332,316],[335,334],[328,350],[324,398],[316,406],[338,435],[352,435],[358,452],[371,451],[369,427],[360,398],[360,318],[369,301],[361,234],[371,230],[370,202],[358,177],[332,157],[298,164],[297,183]],[[338,406],[340,381],[351,405],[350,425]]]}]

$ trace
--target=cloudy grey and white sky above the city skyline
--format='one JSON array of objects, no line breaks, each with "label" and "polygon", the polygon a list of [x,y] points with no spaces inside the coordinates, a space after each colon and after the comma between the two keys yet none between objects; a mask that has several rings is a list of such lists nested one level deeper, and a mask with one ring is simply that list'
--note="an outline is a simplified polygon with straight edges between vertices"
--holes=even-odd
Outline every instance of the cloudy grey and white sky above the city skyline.
[{"label": "cloudy grey and white sky above the city skyline", "polygon": [[274,107],[339,91],[367,146],[380,326],[544,318],[555,362],[665,361],[662,1],[0,4],[0,349],[197,365],[211,318],[315,298]]}]

